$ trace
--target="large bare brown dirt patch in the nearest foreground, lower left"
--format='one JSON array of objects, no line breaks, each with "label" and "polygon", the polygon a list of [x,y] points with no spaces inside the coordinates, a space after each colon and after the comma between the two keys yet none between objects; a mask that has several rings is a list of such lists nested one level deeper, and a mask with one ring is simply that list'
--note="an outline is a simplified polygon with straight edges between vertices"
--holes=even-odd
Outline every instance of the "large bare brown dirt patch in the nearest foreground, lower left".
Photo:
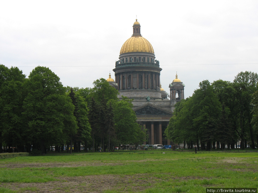
[{"label": "large bare brown dirt patch in the nearest foreground, lower left", "polygon": [[117,190],[118,192],[139,192],[151,188],[158,178],[144,174],[137,175],[96,175],[58,178],[59,181],[45,183],[1,183],[0,186],[11,190],[32,192],[103,192]]}]

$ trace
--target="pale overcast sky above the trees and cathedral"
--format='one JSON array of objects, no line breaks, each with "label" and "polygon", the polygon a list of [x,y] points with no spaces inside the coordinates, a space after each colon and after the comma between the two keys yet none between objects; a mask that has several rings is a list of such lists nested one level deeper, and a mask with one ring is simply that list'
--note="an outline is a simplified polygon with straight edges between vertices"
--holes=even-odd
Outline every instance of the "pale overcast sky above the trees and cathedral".
[{"label": "pale overcast sky above the trees and cathedral", "polygon": [[64,86],[114,77],[136,19],[160,61],[161,85],[185,98],[202,80],[258,71],[258,1],[0,1],[0,64],[49,67]]}]

